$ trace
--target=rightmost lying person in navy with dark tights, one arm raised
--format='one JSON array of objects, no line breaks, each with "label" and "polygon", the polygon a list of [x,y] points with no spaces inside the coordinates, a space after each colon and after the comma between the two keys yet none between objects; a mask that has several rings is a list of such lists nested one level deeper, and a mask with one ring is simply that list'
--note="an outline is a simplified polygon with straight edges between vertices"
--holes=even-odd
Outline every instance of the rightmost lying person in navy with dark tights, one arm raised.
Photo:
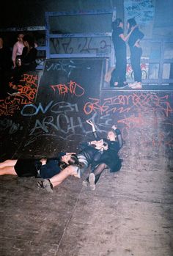
[{"label": "rightmost lying person in navy with dark tights, one arm raised", "polygon": [[[94,123],[92,121],[87,121],[87,123],[92,125],[92,132],[95,134],[95,138],[99,139]],[[116,125],[111,127],[107,133],[107,140],[104,140],[108,145],[108,150],[104,150],[100,159],[92,163],[92,171],[89,177],[83,181],[83,185],[89,186],[91,190],[95,190],[95,184],[105,169],[110,169],[110,172],[118,172],[122,167],[122,159],[119,158],[118,153],[122,148],[123,140],[122,134]]]}]

